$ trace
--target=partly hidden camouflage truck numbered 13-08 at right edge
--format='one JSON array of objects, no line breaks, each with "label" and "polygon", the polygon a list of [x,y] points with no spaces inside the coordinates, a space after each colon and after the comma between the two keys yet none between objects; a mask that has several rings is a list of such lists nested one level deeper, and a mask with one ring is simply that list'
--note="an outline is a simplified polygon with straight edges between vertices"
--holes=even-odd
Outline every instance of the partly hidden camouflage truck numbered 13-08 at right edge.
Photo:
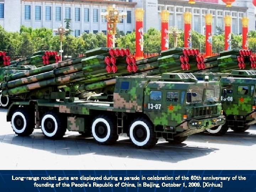
[{"label": "partly hidden camouflage truck numbered 13-08 at right edge", "polygon": [[220,101],[226,123],[207,131],[213,135],[223,135],[231,128],[234,132],[244,132],[256,123],[256,71],[234,70],[226,73],[194,73],[199,80],[206,75],[210,80],[219,80],[221,86]]}]

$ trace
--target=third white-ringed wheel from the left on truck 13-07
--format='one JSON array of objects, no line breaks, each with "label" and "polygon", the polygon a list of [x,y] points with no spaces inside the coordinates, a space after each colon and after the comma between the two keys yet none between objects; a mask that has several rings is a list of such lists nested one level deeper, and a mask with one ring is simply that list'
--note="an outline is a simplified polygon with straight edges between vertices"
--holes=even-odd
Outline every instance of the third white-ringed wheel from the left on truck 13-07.
[{"label": "third white-ringed wheel from the left on truck 13-07", "polygon": [[91,125],[92,136],[102,145],[114,144],[117,139],[117,127],[113,120],[106,115],[99,115],[94,118]]}]

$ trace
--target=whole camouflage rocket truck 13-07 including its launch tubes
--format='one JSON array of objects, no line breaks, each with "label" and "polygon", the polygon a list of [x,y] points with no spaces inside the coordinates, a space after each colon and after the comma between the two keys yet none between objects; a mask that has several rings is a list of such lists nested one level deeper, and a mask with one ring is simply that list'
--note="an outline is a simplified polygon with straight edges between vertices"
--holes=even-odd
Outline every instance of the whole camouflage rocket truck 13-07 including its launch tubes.
[{"label": "whole camouflage rocket truck 13-07 including its launch tubes", "polygon": [[[106,69],[117,66],[106,66],[106,55],[89,55],[78,64],[58,63],[52,71],[7,76],[10,81],[0,85],[2,94],[22,98],[7,112],[17,135],[28,136],[41,128],[47,138],[59,139],[68,129],[112,144],[119,134],[127,133],[137,147],[151,148],[158,138],[181,143],[188,135],[225,123],[219,82],[198,81],[192,74],[121,76],[127,73],[125,57],[116,58],[118,70],[110,73]],[[63,85],[70,87],[69,97],[59,92]],[[76,90],[85,89],[100,89],[103,94],[93,100],[75,97]],[[206,97],[208,90],[214,95]]]}]

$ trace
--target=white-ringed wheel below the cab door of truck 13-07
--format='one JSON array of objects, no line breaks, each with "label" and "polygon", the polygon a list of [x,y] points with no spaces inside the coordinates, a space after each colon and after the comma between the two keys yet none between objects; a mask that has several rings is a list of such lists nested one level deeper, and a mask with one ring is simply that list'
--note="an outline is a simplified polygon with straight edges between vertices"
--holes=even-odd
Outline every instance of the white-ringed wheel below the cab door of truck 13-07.
[{"label": "white-ringed wheel below the cab door of truck 13-07", "polygon": [[157,143],[153,125],[145,118],[137,118],[130,124],[130,140],[138,148],[149,149]]}]

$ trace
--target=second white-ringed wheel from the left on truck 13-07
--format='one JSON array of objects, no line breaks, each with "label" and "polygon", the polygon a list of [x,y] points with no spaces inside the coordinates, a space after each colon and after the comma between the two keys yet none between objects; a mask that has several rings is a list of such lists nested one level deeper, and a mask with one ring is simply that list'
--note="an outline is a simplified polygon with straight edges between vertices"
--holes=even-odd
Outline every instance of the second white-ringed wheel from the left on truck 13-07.
[{"label": "second white-ringed wheel from the left on truck 13-07", "polygon": [[60,139],[65,135],[66,124],[60,121],[60,118],[55,112],[46,112],[41,121],[43,134],[50,139]]}]

